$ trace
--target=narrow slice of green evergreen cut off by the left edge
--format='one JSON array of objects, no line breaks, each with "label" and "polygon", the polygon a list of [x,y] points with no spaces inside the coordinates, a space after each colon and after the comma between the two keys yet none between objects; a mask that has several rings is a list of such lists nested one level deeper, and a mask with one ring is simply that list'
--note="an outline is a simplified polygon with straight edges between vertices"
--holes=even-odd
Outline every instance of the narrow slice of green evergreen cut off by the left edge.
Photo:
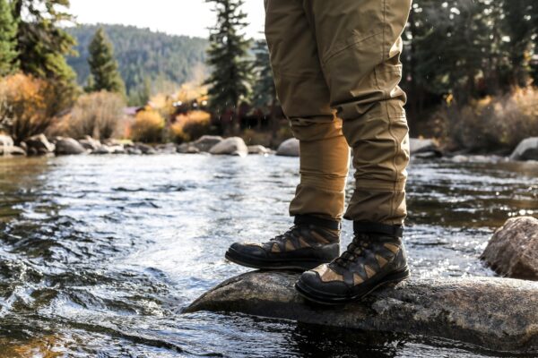
[{"label": "narrow slice of green evergreen cut off by the left edge", "polygon": [[17,69],[17,22],[13,19],[11,4],[0,0],[0,76]]}]

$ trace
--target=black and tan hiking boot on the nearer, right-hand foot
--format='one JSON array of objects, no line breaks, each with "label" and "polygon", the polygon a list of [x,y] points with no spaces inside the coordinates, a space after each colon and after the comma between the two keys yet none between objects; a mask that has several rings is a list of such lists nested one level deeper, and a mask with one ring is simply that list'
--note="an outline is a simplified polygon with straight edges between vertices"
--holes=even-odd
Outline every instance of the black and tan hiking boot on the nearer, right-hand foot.
[{"label": "black and tan hiking boot on the nearer, right-hand foot", "polygon": [[354,231],[339,258],[299,277],[299,294],[317,303],[349,303],[410,276],[402,226],[356,222]]}]

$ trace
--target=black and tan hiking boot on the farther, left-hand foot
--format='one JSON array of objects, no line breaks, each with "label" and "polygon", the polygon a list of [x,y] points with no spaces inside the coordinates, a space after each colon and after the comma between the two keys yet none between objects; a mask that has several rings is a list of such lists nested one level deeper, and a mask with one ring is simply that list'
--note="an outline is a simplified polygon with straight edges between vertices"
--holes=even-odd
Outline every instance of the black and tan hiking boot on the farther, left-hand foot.
[{"label": "black and tan hiking boot on the farther, left-hand foot", "polygon": [[226,259],[248,268],[316,268],[340,252],[340,221],[297,216],[295,226],[268,243],[233,243]]}]

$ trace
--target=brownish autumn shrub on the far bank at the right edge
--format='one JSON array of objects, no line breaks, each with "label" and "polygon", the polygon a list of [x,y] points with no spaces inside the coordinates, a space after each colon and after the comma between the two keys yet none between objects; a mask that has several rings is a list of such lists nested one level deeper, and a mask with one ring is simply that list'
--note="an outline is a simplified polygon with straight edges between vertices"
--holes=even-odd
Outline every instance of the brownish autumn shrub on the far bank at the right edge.
[{"label": "brownish autumn shrub on the far bank at the right edge", "polygon": [[438,112],[447,140],[459,149],[508,151],[538,136],[538,90],[514,90],[504,96],[446,105]]}]

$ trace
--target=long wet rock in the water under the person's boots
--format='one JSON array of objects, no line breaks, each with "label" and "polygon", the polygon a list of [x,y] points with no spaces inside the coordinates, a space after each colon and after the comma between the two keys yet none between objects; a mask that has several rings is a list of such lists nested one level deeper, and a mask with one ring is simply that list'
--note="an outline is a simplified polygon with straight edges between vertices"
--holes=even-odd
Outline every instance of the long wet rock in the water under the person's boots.
[{"label": "long wet rock in the water under the person's boots", "polygon": [[411,280],[361,303],[320,306],[296,294],[299,274],[233,277],[185,312],[242,312],[304,323],[444,337],[495,350],[538,352],[538,283],[497,277]]}]

